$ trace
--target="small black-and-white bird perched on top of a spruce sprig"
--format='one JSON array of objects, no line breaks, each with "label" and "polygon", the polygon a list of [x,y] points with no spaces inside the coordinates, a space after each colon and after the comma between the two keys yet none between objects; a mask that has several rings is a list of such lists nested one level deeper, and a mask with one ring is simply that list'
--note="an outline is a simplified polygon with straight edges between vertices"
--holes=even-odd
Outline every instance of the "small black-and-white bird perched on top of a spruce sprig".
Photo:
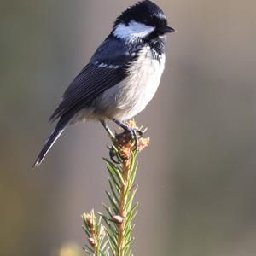
[{"label": "small black-and-white bird perched on top of a spruce sprig", "polygon": [[96,49],[89,63],[64,92],[50,116],[55,130],[32,166],[37,167],[68,125],[96,120],[109,131],[113,121],[136,135],[125,124],[143,111],[159,87],[166,61],[166,15],[149,0],[125,9],[114,21],[108,37]]}]

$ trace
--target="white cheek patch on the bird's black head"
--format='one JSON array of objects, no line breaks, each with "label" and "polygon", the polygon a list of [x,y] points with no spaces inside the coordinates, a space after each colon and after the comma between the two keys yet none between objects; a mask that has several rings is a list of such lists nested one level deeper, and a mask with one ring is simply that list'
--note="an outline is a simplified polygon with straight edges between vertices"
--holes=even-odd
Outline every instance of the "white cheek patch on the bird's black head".
[{"label": "white cheek patch on the bird's black head", "polygon": [[147,37],[151,32],[154,32],[154,29],[154,26],[147,26],[143,23],[131,20],[128,26],[125,26],[124,23],[119,24],[113,31],[113,35],[117,38],[125,39],[126,41],[135,41]]}]

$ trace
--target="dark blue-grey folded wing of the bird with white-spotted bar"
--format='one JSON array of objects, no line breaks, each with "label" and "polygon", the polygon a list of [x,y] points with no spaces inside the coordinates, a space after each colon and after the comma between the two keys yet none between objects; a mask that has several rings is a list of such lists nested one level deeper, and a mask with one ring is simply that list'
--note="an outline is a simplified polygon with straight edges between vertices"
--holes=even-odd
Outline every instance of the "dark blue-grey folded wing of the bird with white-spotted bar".
[{"label": "dark blue-grey folded wing of the bird with white-spotted bar", "polygon": [[107,38],[69,85],[49,121],[61,118],[61,123],[68,122],[81,109],[90,106],[96,96],[125,79],[125,71],[135,57],[119,39]]}]

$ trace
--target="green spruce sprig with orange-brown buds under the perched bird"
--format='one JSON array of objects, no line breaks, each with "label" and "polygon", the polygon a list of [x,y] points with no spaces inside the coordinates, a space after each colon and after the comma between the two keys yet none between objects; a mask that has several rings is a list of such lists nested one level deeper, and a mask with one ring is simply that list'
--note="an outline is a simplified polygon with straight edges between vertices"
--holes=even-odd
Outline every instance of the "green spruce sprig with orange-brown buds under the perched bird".
[{"label": "green spruce sprig with orange-brown buds under the perched bird", "polygon": [[[127,125],[137,129],[134,120]],[[142,128],[141,128],[142,129]],[[141,130],[140,129],[140,130]],[[96,256],[131,256],[131,243],[135,240],[132,230],[135,227],[133,219],[137,215],[138,203],[133,203],[137,192],[134,185],[137,172],[137,153],[149,144],[149,138],[137,135],[132,140],[125,132],[116,136],[110,135],[112,147],[110,158],[104,158],[108,170],[109,191],[106,191],[108,205],[102,204],[106,214],[94,211],[83,214],[84,230],[88,237],[88,245],[84,247],[89,255]],[[102,222],[103,220],[103,223]]]}]

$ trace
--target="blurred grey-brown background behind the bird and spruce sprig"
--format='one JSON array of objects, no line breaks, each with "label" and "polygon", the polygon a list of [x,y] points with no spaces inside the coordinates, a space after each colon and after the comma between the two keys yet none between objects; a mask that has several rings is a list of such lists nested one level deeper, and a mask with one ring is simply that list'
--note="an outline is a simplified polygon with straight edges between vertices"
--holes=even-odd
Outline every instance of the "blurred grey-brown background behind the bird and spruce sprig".
[{"label": "blurred grey-brown background behind the bird and spruce sprig", "polygon": [[[159,0],[166,71],[139,155],[135,255],[256,255],[256,3]],[[135,1],[1,1],[0,255],[79,256],[102,211],[108,137],[67,129],[31,169],[63,90]]]}]

